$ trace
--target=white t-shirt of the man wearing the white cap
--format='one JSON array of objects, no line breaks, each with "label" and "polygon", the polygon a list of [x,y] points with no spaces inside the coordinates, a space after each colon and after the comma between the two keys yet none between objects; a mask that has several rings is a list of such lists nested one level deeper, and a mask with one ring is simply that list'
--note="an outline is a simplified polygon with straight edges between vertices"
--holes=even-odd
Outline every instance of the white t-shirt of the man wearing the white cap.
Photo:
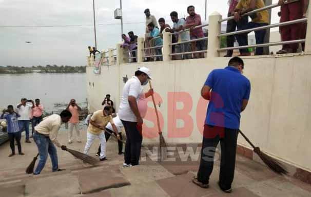
[{"label": "white t-shirt of the man wearing the white cap", "polygon": [[133,76],[125,83],[123,87],[121,103],[119,106],[119,117],[121,120],[137,122],[137,118],[129,106],[128,96],[135,97],[136,101],[138,102],[139,95],[142,93],[142,91],[143,88],[141,81],[136,76]]}]

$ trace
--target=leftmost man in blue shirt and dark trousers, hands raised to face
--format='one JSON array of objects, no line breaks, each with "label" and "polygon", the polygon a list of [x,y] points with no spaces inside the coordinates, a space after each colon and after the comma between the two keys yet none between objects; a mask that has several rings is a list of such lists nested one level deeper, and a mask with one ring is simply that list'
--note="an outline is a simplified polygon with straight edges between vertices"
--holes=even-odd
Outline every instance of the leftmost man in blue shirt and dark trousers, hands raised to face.
[{"label": "leftmost man in blue shirt and dark trousers, hands raised to face", "polygon": [[22,146],[21,146],[21,131],[20,127],[18,126],[18,120],[17,118],[21,117],[19,114],[14,112],[13,105],[9,105],[7,110],[3,111],[3,114],[0,116],[0,119],[6,119],[7,120],[7,132],[10,139],[10,147],[12,150],[12,153],[9,155],[9,157],[12,157],[15,155],[15,145],[14,145],[14,139],[17,143],[18,148],[18,154],[24,155],[22,152]]}]

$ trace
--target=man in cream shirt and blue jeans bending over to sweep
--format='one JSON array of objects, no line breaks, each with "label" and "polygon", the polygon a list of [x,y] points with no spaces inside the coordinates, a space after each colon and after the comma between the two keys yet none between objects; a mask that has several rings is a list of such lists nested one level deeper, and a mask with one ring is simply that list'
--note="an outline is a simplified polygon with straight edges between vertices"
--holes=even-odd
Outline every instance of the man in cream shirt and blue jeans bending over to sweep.
[{"label": "man in cream shirt and blue jeans bending over to sweep", "polygon": [[54,144],[62,150],[67,150],[67,147],[62,145],[56,138],[59,129],[63,123],[66,123],[71,118],[71,113],[64,110],[60,115],[53,114],[43,119],[37,126],[34,127],[33,140],[38,147],[40,160],[33,174],[40,174],[48,154],[50,155],[53,171],[61,171],[57,160],[57,151]]}]

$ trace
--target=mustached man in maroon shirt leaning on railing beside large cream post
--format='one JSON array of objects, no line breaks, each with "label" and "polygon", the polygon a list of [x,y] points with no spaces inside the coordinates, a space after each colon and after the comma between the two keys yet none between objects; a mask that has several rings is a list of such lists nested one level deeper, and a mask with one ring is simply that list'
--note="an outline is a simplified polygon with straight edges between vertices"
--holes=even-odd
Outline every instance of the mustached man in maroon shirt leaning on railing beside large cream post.
[{"label": "mustached man in maroon shirt leaning on railing beside large cream post", "polygon": [[[185,29],[190,28],[190,38],[197,39],[204,37],[203,28],[195,28],[196,26],[202,25],[201,16],[196,14],[194,6],[188,6],[187,12],[189,16],[186,18]],[[199,40],[195,42],[191,42],[192,51],[203,51],[206,49],[205,47],[206,40]],[[204,53],[196,53],[193,54],[195,58],[204,58]]]}]

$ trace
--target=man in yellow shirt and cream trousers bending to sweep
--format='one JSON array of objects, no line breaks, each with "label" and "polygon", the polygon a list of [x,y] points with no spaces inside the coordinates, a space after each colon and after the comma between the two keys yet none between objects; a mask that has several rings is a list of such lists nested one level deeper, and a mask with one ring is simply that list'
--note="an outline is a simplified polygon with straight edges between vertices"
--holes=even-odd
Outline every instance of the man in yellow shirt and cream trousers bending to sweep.
[{"label": "man in yellow shirt and cream trousers bending to sweep", "polygon": [[112,107],[107,105],[104,107],[104,110],[99,110],[93,113],[90,124],[87,129],[87,142],[84,148],[84,154],[87,154],[90,147],[92,146],[95,138],[99,138],[101,143],[101,155],[100,160],[105,161],[106,159],[106,138],[105,138],[105,127],[110,122],[115,136],[120,140],[120,135],[118,129],[116,129],[112,116]]}]

